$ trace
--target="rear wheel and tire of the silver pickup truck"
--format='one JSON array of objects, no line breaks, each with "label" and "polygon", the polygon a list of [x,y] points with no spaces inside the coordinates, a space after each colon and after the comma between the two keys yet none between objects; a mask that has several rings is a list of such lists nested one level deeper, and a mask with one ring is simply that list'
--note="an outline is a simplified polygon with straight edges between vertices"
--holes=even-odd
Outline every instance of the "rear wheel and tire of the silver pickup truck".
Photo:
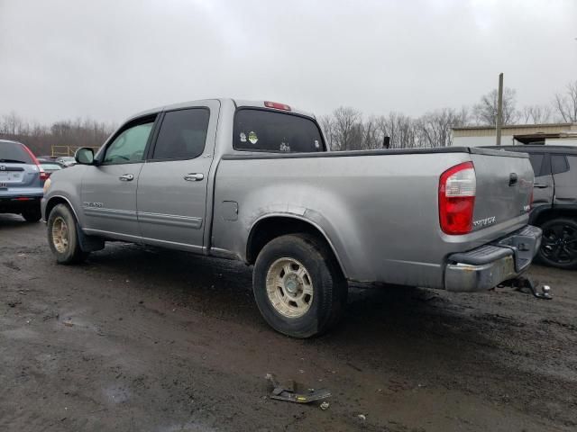
[{"label": "rear wheel and tire of the silver pickup truck", "polygon": [[252,291],[270,327],[293,338],[310,338],[325,333],[341,318],[348,285],[324,242],[307,234],[290,234],[262,248],[254,265]]}]

